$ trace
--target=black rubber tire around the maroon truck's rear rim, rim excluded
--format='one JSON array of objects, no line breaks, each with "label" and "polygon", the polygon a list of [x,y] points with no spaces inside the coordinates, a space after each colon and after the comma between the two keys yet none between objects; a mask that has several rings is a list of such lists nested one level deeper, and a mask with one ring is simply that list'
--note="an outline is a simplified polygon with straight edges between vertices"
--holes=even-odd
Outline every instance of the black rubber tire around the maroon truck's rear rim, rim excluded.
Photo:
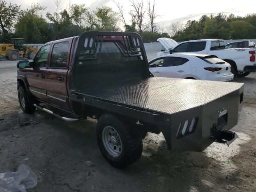
[{"label": "black rubber tire around the maroon truck's rear rim, rim excluded", "polygon": [[[112,127],[118,133],[122,150],[117,156],[111,155],[105,147],[104,129],[106,127]],[[143,145],[140,132],[137,132],[133,127],[129,127],[127,123],[112,114],[103,114],[98,119],[97,141],[104,158],[116,168],[121,169],[129,166],[136,162],[142,154]]]}]

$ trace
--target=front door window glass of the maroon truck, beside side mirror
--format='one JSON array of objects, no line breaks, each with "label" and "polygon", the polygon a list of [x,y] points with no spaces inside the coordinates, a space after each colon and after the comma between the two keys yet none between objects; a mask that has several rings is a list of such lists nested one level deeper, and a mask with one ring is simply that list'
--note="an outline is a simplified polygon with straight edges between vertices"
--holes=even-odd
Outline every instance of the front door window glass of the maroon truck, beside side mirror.
[{"label": "front door window glass of the maroon truck, beside side mirror", "polygon": [[42,46],[34,58],[34,67],[46,68],[50,45]]}]

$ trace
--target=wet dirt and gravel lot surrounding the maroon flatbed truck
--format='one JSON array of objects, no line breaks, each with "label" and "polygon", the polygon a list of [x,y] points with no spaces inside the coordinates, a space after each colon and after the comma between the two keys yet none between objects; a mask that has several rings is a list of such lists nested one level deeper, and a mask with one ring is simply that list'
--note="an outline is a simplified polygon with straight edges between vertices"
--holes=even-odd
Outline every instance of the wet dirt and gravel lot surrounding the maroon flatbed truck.
[{"label": "wet dirt and gravel lot surrounding the maroon flatbed truck", "polygon": [[237,81],[245,83],[244,108],[233,128],[239,138],[231,146],[214,143],[204,152],[171,152],[161,134],[148,134],[140,160],[118,170],[98,150],[95,120],[64,122],[38,110],[22,113],[16,62],[1,61],[0,173],[28,165],[38,178],[30,192],[254,192],[256,73]]}]

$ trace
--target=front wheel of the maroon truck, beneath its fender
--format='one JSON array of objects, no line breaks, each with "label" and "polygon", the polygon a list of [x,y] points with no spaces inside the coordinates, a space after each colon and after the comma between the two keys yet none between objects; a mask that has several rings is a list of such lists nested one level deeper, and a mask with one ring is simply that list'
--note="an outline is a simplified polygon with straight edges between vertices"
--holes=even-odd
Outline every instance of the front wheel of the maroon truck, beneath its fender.
[{"label": "front wheel of the maroon truck, beneath its fender", "polygon": [[24,113],[32,114],[35,112],[36,107],[29,104],[26,90],[22,86],[18,88],[18,99],[20,103],[20,108]]}]

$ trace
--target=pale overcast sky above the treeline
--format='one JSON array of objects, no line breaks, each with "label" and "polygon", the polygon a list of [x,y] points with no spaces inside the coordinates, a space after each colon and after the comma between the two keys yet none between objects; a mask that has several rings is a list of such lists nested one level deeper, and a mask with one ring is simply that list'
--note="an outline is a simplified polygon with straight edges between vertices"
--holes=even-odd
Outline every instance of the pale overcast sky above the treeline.
[{"label": "pale overcast sky above the treeline", "polygon": [[[61,9],[67,8],[69,0],[62,0]],[[148,0],[143,0],[146,5]],[[151,0],[153,1],[153,0]],[[7,0],[13,4],[20,4],[22,9],[26,9],[31,3],[40,3],[47,6],[46,12],[54,12],[54,0]],[[72,4],[86,4],[94,10],[98,6],[106,5],[117,11],[112,0],[71,0]],[[128,14],[130,10],[129,0],[116,0],[124,4],[126,20],[130,21]],[[198,19],[202,14],[210,13],[230,13],[236,16],[245,16],[246,14],[256,13],[256,0],[156,0],[156,13],[160,15],[156,22],[161,25],[169,25],[172,22]]]}]

